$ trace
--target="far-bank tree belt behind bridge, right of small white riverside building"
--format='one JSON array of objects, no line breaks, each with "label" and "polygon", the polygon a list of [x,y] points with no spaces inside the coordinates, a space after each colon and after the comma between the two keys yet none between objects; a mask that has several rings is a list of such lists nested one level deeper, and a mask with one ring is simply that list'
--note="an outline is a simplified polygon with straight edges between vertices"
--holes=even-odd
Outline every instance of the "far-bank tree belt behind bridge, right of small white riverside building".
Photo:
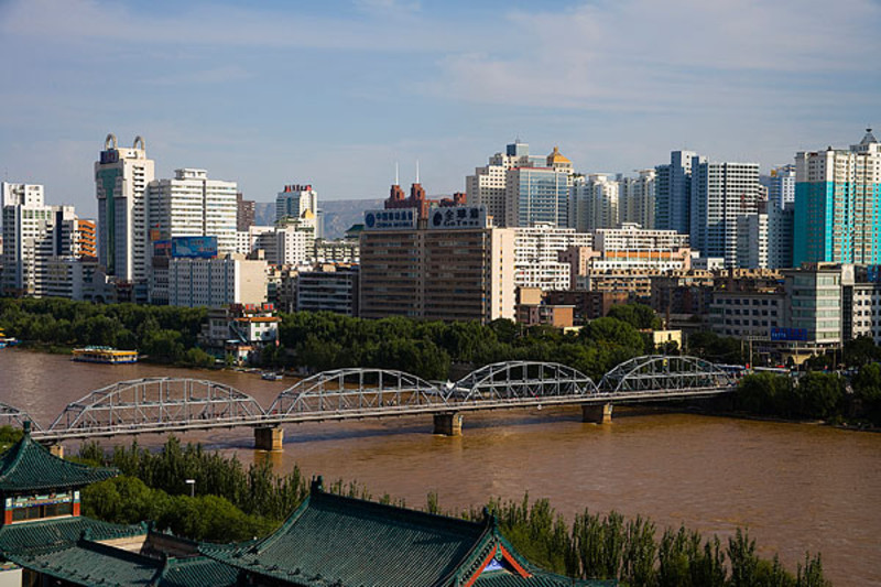
[{"label": "far-bank tree belt behind bridge, right of small white riverside building", "polygon": [[456,366],[467,366],[464,371],[468,371],[493,362],[532,360],[561,362],[598,380],[619,362],[651,350],[640,329],[656,323],[654,312],[638,304],[616,306],[578,333],[525,327],[508,319],[445,323],[298,312],[282,314],[281,346],[267,361],[314,371],[403,368],[438,380],[450,378]]}]

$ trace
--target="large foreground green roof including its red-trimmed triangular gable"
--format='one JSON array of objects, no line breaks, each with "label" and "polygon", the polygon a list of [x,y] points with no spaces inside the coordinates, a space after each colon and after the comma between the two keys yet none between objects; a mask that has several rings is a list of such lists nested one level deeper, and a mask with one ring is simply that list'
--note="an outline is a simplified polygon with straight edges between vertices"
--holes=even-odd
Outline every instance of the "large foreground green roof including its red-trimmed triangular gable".
[{"label": "large foreground green roof including its red-trimmed triangular gable", "polygon": [[533,567],[489,515],[471,522],[335,496],[324,492],[320,481],[272,535],[199,550],[249,574],[301,587],[614,585],[573,581]]}]

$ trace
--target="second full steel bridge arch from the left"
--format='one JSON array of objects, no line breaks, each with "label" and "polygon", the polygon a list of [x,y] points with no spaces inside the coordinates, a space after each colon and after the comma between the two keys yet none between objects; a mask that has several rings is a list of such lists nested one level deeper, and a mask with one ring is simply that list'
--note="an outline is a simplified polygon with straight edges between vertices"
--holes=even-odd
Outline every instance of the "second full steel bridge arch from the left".
[{"label": "second full steel bridge arch from the left", "polygon": [[305,413],[394,411],[395,407],[437,406],[440,390],[403,371],[350,368],[323,371],[287,388],[275,398],[267,415],[284,418]]}]

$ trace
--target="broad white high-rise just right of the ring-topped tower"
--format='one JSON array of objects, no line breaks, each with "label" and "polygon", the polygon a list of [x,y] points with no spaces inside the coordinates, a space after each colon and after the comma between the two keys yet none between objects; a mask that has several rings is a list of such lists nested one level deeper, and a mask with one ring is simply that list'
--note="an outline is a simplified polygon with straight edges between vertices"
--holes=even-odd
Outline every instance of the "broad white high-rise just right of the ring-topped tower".
[{"label": "broad white high-rise just right of the ring-topped tower", "polygon": [[148,185],[150,242],[217,237],[219,254],[236,252],[236,182],[209,180],[205,170],[175,170],[174,180]]}]

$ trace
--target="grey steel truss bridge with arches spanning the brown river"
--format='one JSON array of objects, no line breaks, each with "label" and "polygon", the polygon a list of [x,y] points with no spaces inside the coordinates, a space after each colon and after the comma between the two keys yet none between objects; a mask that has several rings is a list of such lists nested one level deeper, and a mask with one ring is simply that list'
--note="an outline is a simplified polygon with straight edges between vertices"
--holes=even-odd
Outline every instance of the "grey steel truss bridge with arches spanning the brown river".
[{"label": "grey steel truss bridge with arches spanning the brown river", "polygon": [[[570,367],[532,361],[488,365],[446,383],[387,369],[337,369],[298,381],[281,392],[269,409],[224,383],[148,378],[93,391],[68,404],[48,427],[33,423],[32,436],[52,443],[544,405],[639,403],[706,398],[735,387],[735,377],[711,362],[660,355],[630,359],[599,383]],[[0,417],[18,424],[31,420],[7,404],[0,404]]]}]

